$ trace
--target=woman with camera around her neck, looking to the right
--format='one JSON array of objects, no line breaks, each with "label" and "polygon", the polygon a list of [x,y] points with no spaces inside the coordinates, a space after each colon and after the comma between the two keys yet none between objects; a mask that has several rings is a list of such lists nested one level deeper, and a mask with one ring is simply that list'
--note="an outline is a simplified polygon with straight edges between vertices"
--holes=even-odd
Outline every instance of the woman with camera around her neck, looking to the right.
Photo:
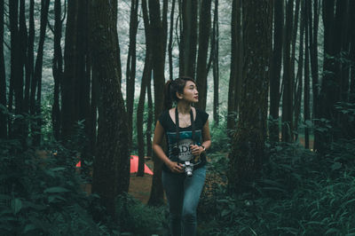
[{"label": "woman with camera around her neck, looking to the right", "polygon": [[[205,152],[211,145],[209,114],[191,106],[199,101],[199,92],[192,78],[180,77],[165,84],[167,107],[172,100],[176,107],[162,112],[154,130],[153,150],[162,159],[162,185],[170,208],[172,235],[194,235],[196,208],[206,177]],[[166,137],[168,155],[162,150]],[[192,167],[190,173],[188,169]]]}]

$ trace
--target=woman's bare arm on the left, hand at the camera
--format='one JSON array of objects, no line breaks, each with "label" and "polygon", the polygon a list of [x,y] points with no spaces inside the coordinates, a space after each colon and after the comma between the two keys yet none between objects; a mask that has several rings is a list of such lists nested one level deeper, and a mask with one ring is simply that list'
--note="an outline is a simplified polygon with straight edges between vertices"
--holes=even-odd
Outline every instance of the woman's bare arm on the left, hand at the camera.
[{"label": "woman's bare arm on the left, hand at the camera", "polygon": [[182,173],[184,169],[177,164],[177,162],[170,161],[169,157],[162,150],[162,138],[164,137],[164,128],[158,121],[155,125],[154,138],[153,138],[153,150],[154,153],[171,169],[172,172]]}]

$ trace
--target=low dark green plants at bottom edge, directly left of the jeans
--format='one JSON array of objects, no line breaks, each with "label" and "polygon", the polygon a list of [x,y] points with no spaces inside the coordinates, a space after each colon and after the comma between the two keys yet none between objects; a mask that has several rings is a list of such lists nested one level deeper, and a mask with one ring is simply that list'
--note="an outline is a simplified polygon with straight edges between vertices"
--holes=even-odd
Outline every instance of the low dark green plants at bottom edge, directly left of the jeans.
[{"label": "low dark green plants at bottom edge, directly left of the jeans", "polygon": [[117,214],[121,232],[130,235],[162,235],[167,229],[164,207],[149,207],[129,194],[117,198]]}]

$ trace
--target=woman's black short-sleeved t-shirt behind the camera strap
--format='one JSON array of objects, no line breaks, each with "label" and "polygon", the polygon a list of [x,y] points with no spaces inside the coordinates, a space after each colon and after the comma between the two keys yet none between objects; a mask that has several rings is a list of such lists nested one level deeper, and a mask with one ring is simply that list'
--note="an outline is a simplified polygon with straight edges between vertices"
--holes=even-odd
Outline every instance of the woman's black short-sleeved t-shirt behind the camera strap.
[{"label": "woman's black short-sleeved t-shirt behind the camera strap", "polygon": [[[202,110],[196,109],[196,117],[194,119],[194,138],[192,132],[192,125],[179,128],[179,141],[178,148],[179,154],[174,155],[172,153],[172,148],[177,146],[177,128],[176,124],[171,120],[169,110],[162,112],[159,117],[159,122],[162,124],[162,128],[164,129],[167,144],[168,144],[168,157],[171,161],[193,161],[197,167],[201,167],[206,164],[206,160],[203,158],[195,158],[193,160],[193,154],[190,150],[190,145],[195,144],[197,146],[201,146],[202,144],[202,127],[207,122],[209,118],[209,114],[205,113]],[[193,140],[193,139],[194,140]],[[170,169],[164,164],[164,170],[170,171]]]}]

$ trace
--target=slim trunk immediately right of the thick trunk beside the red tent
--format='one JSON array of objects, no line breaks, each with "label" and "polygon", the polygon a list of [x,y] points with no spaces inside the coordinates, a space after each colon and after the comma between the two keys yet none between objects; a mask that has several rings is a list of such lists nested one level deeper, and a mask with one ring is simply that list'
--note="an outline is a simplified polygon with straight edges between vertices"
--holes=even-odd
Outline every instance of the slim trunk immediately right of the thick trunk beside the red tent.
[{"label": "slim trunk immediately right of the thick trunk beside the red tent", "polygon": [[136,41],[138,29],[138,0],[130,1],[130,46],[127,57],[127,70],[126,70],[126,105],[128,114],[128,128],[131,146],[132,141],[132,120],[133,120],[133,103],[134,103],[134,90],[136,81]]}]

